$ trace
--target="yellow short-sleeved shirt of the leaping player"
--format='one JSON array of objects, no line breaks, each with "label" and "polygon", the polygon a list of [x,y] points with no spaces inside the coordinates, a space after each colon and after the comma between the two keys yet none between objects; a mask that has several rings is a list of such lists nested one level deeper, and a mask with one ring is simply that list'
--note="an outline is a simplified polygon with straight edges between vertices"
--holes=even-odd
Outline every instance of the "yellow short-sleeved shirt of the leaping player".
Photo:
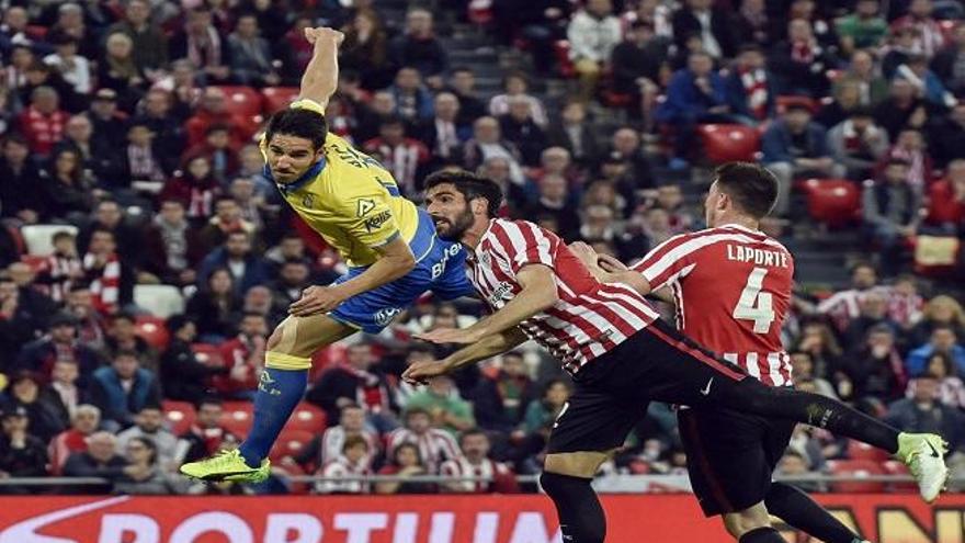
[{"label": "yellow short-sleeved shirt of the leaping player", "polygon": [[[292,108],[323,115],[311,100],[299,100]],[[268,143],[261,150],[266,159]],[[378,260],[381,246],[401,237],[415,237],[419,214],[416,205],[402,197],[391,173],[372,157],[356,150],[341,137],[329,133],[325,156],[302,178],[277,183],[285,201],[334,247],[351,267],[364,267]],[[271,172],[265,168],[271,179]]]}]

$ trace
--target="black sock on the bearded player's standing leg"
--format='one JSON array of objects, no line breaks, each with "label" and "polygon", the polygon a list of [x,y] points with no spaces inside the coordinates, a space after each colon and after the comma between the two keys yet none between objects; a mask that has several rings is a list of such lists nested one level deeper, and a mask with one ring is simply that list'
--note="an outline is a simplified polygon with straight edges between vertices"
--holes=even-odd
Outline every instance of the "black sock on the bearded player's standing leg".
[{"label": "black sock on the bearded player's standing leg", "polygon": [[603,543],[606,518],[592,479],[543,472],[540,484],[556,505],[564,543]]}]

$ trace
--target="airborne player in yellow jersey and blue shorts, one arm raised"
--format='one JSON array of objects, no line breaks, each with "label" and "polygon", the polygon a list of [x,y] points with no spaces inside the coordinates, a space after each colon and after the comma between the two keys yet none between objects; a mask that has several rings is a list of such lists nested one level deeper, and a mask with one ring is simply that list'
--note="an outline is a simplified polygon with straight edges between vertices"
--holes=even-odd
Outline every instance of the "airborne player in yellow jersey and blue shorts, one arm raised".
[{"label": "airborne player in yellow jersey and blue shorts, one arm raised", "polygon": [[341,32],[306,29],[314,54],[298,100],[268,123],[265,170],[285,201],[350,271],[328,286],[310,286],[268,341],[252,428],[229,452],[181,466],[205,480],[260,482],[268,453],[302,399],[311,354],[359,330],[377,333],[427,291],[442,298],[472,295],[458,242],[435,236],[429,214],[399,194],[376,160],[329,134],[325,110],[338,84]]}]

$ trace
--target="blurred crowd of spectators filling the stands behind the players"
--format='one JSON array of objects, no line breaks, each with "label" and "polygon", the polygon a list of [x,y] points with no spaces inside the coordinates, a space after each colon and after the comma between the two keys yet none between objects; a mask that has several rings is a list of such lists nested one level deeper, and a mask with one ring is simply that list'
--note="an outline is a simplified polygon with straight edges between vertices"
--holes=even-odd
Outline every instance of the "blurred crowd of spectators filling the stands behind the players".
[{"label": "blurred crowd of spectators filling the stands behind the players", "polygon": [[[702,124],[759,132],[760,160],[781,181],[764,224],[775,237],[818,230],[782,223],[807,215],[796,180],[853,184],[865,261],[850,285],[795,293],[785,327],[795,382],[905,431],[939,432],[962,463],[961,291],[906,273],[909,241],[916,259],[924,247],[933,260],[951,253],[954,268],[965,235],[960,2],[493,0],[479,32],[532,69],[503,70],[492,95],[476,89],[473,66],[449,58],[452,21],[473,20],[478,5],[435,4],[409,7],[402,21],[372,0],[4,4],[0,477],[107,482],[83,491],[252,491],[192,485],[177,467],[239,442],[226,406],[251,399],[266,337],[305,287],[344,271],[263,174],[257,137],[270,112],[234,102],[297,87],[309,25],[347,35],[330,131],[417,201],[431,171],[479,171],[504,188],[506,216],[631,261],[703,226],[681,176],[706,172]],[[568,92],[543,93],[549,80]],[[621,124],[601,134],[604,120]],[[37,225],[65,226],[39,254],[24,236]],[[183,312],[157,319],[135,303],[143,285],[175,287]],[[524,346],[424,388],[399,380],[407,364],[452,350],[413,333],[479,312],[430,296],[383,333],[318,353],[305,401],[327,428],[275,465],[345,477],[316,493],[532,488],[514,475],[538,473],[571,388],[555,361]],[[166,407],[186,404],[193,422],[174,434]],[[804,427],[790,451],[783,473],[851,454]],[[605,470],[681,473],[684,462],[672,410],[655,405]],[[479,479],[364,480],[376,473]],[[258,490],[283,488],[298,486]]]}]

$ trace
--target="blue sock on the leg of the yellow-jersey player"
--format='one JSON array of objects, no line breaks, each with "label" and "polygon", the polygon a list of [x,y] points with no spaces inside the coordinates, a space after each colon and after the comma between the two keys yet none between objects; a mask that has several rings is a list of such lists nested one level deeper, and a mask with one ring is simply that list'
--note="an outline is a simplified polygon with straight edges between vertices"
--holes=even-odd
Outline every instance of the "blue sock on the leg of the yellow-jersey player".
[{"label": "blue sock on the leg of the yellow-jersey player", "polygon": [[268,456],[295,406],[302,400],[308,385],[308,370],[262,371],[254,395],[254,419],[248,439],[238,448],[249,467],[259,467]]}]

